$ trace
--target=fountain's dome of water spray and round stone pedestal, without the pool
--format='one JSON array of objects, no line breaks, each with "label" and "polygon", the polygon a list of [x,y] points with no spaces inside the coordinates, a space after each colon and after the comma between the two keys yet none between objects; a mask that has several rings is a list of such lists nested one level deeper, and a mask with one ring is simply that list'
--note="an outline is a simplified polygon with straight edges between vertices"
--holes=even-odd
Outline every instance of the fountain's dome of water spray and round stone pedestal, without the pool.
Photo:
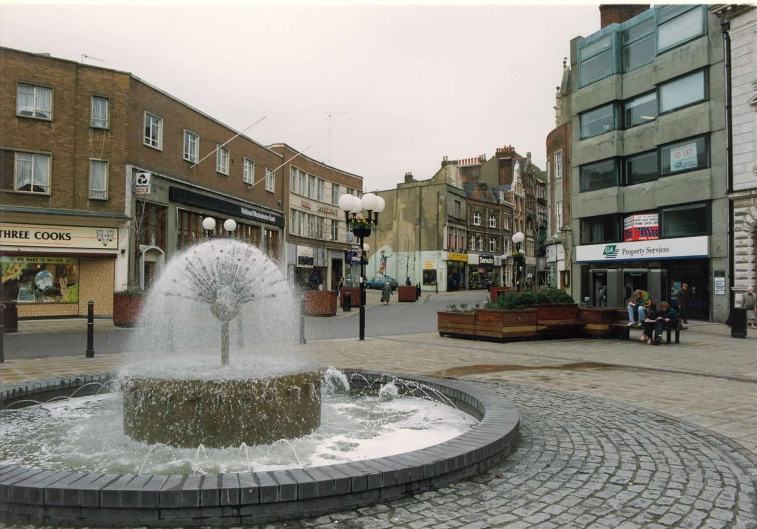
[{"label": "fountain's dome of water spray and round stone pedestal, without the pool", "polygon": [[[245,310],[248,304],[277,307],[263,324],[291,327],[288,286],[276,265],[256,247],[234,239],[211,239],[170,261],[141,316],[142,344],[151,349],[149,344],[160,340],[166,329],[165,313],[156,309],[176,315],[172,327],[193,309],[199,314],[191,327],[182,330],[180,349],[173,333],[174,352],[168,358],[157,362],[150,358],[123,370],[123,429],[129,437],[185,448],[201,444],[223,448],[301,437],[319,426],[317,368],[304,362],[273,362],[264,358],[262,344],[254,344],[249,352],[240,350],[238,362],[229,366],[230,323],[238,322],[238,343],[243,346],[244,327],[253,326],[253,319],[260,316],[253,307]],[[212,346],[198,346],[207,332],[198,322],[210,319],[208,310],[220,330],[217,363],[212,360]],[[245,358],[245,353],[254,358]]]}]

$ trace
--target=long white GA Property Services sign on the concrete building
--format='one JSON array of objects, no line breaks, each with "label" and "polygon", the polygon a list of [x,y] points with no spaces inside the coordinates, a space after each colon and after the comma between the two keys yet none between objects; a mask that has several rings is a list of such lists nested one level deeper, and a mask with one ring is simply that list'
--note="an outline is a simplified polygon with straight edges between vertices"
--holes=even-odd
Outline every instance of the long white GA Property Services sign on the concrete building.
[{"label": "long white GA Property Services sign on the concrete building", "polygon": [[709,237],[680,237],[633,243],[590,244],[576,247],[577,263],[660,261],[709,257]]}]

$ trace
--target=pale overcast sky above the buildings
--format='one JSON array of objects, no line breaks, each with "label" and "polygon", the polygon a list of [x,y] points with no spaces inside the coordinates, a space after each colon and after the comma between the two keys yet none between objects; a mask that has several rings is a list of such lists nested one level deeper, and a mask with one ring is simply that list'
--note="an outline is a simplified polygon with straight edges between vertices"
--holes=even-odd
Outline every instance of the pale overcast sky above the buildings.
[{"label": "pale overcast sky above the buildings", "polygon": [[265,116],[248,136],[366,190],[507,144],[544,168],[562,58],[599,29],[597,5],[0,5],[0,45],[101,58],[236,130]]}]

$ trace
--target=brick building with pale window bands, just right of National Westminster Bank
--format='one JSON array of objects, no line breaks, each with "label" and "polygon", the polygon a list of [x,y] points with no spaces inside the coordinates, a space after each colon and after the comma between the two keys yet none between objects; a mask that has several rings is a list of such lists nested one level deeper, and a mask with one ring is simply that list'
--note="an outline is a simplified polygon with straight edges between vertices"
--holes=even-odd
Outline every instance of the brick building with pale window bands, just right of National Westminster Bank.
[{"label": "brick building with pale window bands, just right of National Westminster Bank", "polygon": [[313,160],[286,143],[270,146],[283,157],[284,211],[288,277],[300,288],[336,290],[339,278],[355,283],[360,277],[357,252],[351,252],[339,197],[363,196],[363,177]]}]

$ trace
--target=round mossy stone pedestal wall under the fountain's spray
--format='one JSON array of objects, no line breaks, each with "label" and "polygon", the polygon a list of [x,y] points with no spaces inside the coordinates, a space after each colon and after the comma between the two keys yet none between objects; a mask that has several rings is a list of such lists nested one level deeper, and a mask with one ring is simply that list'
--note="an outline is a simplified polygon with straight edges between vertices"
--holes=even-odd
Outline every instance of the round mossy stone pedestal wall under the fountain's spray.
[{"label": "round mossy stone pedestal wall under the fountain's spray", "polygon": [[123,430],[133,440],[181,448],[274,443],[321,422],[318,371],[230,380],[124,377]]}]

